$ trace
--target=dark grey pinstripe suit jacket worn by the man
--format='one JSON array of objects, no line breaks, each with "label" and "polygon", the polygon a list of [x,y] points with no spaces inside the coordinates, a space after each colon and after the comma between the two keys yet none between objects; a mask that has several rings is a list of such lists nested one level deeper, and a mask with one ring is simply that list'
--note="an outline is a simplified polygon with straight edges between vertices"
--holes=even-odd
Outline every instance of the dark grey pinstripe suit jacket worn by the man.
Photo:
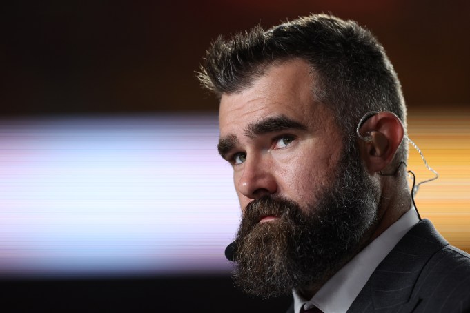
[{"label": "dark grey pinstripe suit jacket worn by the man", "polygon": [[378,265],[347,312],[470,312],[470,255],[424,219]]}]

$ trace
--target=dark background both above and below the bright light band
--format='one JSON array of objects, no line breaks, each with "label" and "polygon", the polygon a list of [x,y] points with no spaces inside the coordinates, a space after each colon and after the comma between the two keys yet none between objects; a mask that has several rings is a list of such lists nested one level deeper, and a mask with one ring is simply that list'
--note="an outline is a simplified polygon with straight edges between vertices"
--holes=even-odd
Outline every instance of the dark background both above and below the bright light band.
[{"label": "dark background both above and below the bright light band", "polygon": [[[470,1],[15,1],[1,5],[0,116],[215,112],[195,71],[210,41],[309,12],[367,26],[409,108],[470,103]],[[4,312],[284,312],[228,276],[1,281]],[[221,309],[220,307],[223,307]]]}]

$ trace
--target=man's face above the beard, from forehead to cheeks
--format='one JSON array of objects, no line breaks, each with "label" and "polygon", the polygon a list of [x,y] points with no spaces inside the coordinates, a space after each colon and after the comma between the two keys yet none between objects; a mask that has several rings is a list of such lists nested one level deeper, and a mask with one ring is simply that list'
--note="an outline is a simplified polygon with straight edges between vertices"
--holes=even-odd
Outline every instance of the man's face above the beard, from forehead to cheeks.
[{"label": "man's face above the beard, from forehead to cheeks", "polygon": [[242,210],[265,194],[306,210],[331,184],[342,137],[331,112],[315,103],[313,83],[309,65],[297,59],[271,67],[243,92],[222,95],[219,150],[233,165]]}]

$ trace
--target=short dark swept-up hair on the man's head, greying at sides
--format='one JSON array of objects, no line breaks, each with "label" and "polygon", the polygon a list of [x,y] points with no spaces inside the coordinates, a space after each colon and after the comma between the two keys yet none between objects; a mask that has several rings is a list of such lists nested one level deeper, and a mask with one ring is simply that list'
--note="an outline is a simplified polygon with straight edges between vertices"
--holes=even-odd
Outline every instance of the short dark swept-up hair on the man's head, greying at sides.
[{"label": "short dark swept-up hair on the man's head, greying at sides", "polygon": [[[370,111],[395,113],[406,133],[407,112],[397,74],[377,39],[355,21],[312,14],[267,31],[257,26],[228,40],[218,37],[206,52],[198,78],[222,97],[250,87],[269,65],[295,58],[311,65],[315,100],[333,111],[346,147],[353,145],[358,121]],[[406,141],[397,157],[406,160]]]}]

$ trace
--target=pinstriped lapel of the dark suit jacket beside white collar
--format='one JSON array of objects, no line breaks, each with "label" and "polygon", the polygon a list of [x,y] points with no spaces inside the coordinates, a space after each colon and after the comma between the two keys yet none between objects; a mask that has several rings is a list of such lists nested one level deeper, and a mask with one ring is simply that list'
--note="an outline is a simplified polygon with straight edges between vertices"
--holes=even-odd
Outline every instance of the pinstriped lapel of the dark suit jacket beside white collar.
[{"label": "pinstriped lapel of the dark suit jacket beside white collar", "polygon": [[378,265],[348,312],[413,312],[416,281],[435,252],[448,245],[428,220],[416,224]]}]

